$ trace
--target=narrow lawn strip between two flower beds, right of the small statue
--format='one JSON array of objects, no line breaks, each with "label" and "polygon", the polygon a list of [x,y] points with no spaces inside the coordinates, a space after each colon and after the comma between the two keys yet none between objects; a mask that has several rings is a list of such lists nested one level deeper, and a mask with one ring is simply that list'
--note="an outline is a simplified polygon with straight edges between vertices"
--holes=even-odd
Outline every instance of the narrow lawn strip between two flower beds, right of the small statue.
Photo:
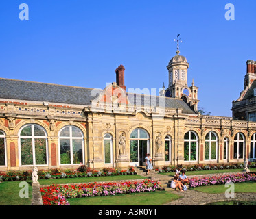
[{"label": "narrow lawn strip between two flower beds, right of the small statue", "polygon": [[40,185],[51,184],[70,184],[70,183],[92,183],[92,182],[106,182],[106,181],[121,181],[132,179],[146,179],[140,175],[117,175],[107,177],[75,177],[75,178],[62,178],[62,179],[39,179]]}]

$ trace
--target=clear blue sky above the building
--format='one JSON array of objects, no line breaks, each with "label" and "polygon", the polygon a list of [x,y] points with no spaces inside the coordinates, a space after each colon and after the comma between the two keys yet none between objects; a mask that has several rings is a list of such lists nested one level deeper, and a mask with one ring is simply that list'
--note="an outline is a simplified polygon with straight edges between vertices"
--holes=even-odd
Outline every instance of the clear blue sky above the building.
[{"label": "clear blue sky above the building", "polygon": [[[29,21],[19,20],[21,3],[29,6]],[[224,18],[227,3],[235,5],[235,21]],[[246,60],[256,60],[255,6],[254,0],[2,0],[0,77],[104,88],[123,64],[127,88],[159,89],[167,86],[166,66],[181,34],[200,107],[231,116]]]}]

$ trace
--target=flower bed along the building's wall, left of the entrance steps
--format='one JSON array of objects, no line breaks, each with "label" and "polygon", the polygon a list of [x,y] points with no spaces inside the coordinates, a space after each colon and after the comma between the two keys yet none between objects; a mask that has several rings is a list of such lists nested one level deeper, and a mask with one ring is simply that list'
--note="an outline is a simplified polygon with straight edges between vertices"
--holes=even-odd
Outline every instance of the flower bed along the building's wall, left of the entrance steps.
[{"label": "flower bed along the building's wall, left of the entrance steps", "polygon": [[[38,179],[60,179],[74,177],[104,177],[111,175],[136,175],[133,166],[128,166],[128,170],[117,170],[116,168],[102,168],[101,170],[93,170],[86,166],[80,166],[77,170],[39,170]],[[0,181],[21,181],[31,180],[32,171],[8,171],[0,172]]]}]

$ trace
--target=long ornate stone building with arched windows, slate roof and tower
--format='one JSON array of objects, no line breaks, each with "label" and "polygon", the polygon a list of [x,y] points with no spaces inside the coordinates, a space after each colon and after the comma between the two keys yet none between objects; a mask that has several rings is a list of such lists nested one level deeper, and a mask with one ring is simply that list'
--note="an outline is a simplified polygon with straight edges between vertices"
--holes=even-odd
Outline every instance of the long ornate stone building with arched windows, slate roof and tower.
[{"label": "long ornate stone building with arched windows, slate roof and tower", "polygon": [[155,167],[255,158],[256,123],[200,115],[176,53],[159,96],[126,92],[124,66],[104,90],[0,79],[0,170],[127,169],[146,153]]}]

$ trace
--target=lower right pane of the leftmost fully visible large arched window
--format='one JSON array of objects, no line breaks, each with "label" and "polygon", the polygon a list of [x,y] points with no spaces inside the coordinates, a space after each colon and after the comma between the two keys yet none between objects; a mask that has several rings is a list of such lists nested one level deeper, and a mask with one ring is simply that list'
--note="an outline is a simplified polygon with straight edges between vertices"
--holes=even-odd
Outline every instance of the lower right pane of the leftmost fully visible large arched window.
[{"label": "lower right pane of the leftmost fully visible large arched window", "polygon": [[35,138],[36,165],[47,164],[46,160],[46,139]]}]

